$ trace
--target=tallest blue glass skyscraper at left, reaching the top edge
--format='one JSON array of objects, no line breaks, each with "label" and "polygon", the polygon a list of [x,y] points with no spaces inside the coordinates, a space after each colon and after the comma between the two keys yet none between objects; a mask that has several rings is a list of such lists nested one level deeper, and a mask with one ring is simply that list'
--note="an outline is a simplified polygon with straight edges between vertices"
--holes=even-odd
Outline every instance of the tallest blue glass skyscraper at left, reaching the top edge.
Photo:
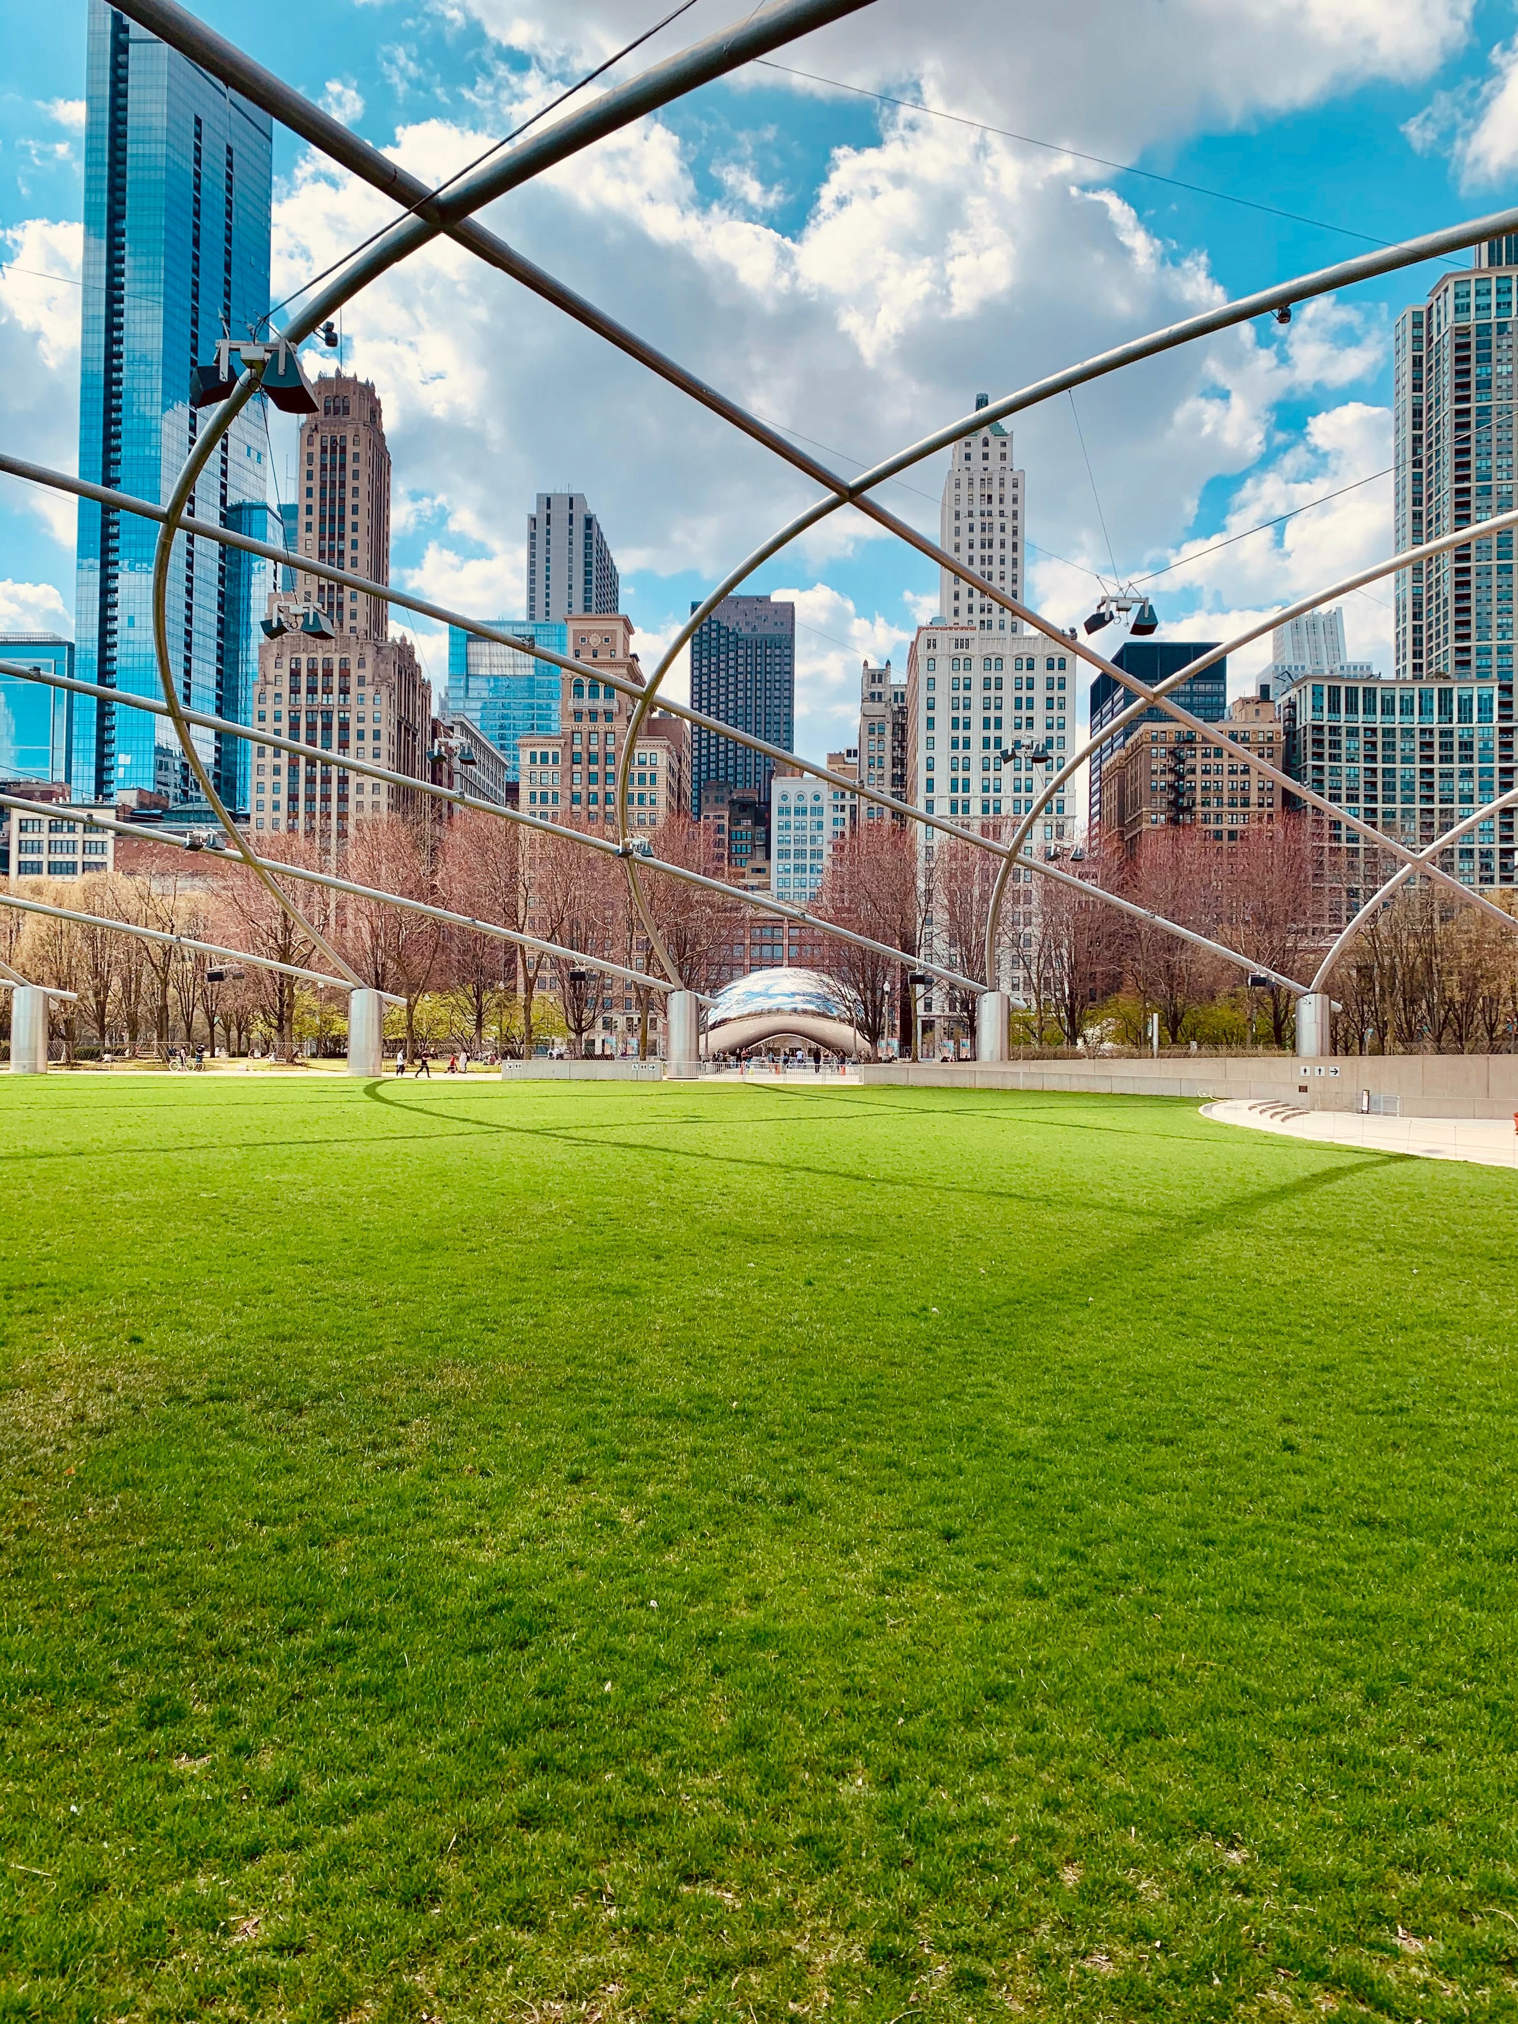
[{"label": "tallest blue glass skyscraper at left, reaching the top edge", "polygon": [[[190,407],[192,366],[210,360],[223,332],[251,330],[269,308],[271,123],[105,0],[89,0],[85,105],[79,474],[162,502],[206,419]],[[257,399],[202,472],[192,512],[277,542],[269,476]],[[81,502],[75,636],[79,674],[89,682],[160,694],[156,542],[152,520]],[[186,702],[247,721],[255,623],[275,587],[269,563],[180,536],[168,581],[168,642]],[[243,741],[200,731],[194,739],[223,799],[243,806]],[[77,797],[152,791],[164,781],[174,793],[190,791],[188,767],[162,721],[77,700]]]}]

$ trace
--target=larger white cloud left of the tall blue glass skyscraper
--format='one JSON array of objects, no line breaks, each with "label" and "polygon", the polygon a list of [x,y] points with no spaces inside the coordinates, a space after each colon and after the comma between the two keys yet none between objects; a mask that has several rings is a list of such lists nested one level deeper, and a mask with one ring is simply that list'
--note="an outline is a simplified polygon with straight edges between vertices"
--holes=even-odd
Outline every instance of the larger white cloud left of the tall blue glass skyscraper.
[{"label": "larger white cloud left of the tall blue glass skyscraper", "polygon": [[[83,227],[28,219],[0,239],[14,261],[0,273],[0,441],[16,455],[73,472]],[[28,486],[24,498],[53,538],[73,546],[75,502],[43,486]]]}]

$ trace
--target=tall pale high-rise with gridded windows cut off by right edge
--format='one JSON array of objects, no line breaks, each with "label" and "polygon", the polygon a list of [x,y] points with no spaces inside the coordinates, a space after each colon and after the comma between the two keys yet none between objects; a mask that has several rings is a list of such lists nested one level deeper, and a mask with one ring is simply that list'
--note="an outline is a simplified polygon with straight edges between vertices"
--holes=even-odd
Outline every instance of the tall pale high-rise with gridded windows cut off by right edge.
[{"label": "tall pale high-rise with gridded windows cut off by right edge", "polygon": [[[1395,340],[1397,546],[1478,528],[1512,494],[1518,235],[1443,273]],[[1512,532],[1480,536],[1397,577],[1397,680],[1512,682]],[[1508,818],[1512,820],[1512,818]]]}]

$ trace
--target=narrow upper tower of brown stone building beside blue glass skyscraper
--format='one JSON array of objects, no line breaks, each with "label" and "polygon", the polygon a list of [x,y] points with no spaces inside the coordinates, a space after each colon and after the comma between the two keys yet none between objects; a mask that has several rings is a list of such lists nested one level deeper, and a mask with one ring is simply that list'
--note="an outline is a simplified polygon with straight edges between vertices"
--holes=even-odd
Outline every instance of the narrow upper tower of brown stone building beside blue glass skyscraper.
[{"label": "narrow upper tower of brown stone building beside blue glass skyscraper", "polygon": [[[391,445],[385,409],[370,381],[334,372],[316,381],[316,415],[300,431],[296,474],[298,546],[318,563],[336,563],[370,583],[391,581]],[[289,520],[285,518],[285,526]],[[350,640],[387,640],[387,607],[378,597],[322,583],[300,573],[304,603],[326,611]]]}]

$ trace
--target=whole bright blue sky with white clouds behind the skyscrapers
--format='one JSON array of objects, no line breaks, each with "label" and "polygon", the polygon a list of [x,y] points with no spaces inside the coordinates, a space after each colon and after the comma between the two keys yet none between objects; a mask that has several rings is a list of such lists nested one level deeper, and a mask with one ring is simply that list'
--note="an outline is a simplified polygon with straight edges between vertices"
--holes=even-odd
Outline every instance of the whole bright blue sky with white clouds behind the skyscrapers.
[{"label": "whole bright blue sky with white clouds behind the skyscrapers", "polygon": [[[245,10],[217,0],[200,12],[247,34]],[[634,65],[729,12],[696,0]],[[308,10],[300,40],[275,49],[261,34],[257,53],[441,178],[650,14],[634,0],[330,0]],[[1008,49],[992,0],[953,14],[882,0],[785,61],[1216,194],[749,71],[496,206],[492,223],[848,466],[951,419],[980,389],[1004,393],[1218,287],[1243,293],[1348,257],[1366,245],[1354,233],[1399,239],[1514,200],[1516,28],[1512,6],[1463,0],[1087,0],[1048,10]],[[67,468],[83,49],[75,0],[12,10],[0,95],[12,261],[0,427],[8,447]],[[389,208],[287,136],[275,166],[283,293]],[[1069,623],[1097,589],[1087,571],[1111,569],[1107,534],[1119,573],[1137,577],[1388,463],[1390,320],[1433,271],[1356,289],[1289,332],[1257,326],[1089,389],[1079,415],[1093,476],[1069,403],[1020,419],[1034,599]],[[480,615],[520,607],[532,492],[573,484],[603,516],[648,664],[690,599],[810,496],[461,255],[429,253],[393,277],[352,306],[344,336],[387,403],[395,573]],[[941,463],[923,466],[884,496],[935,528],[939,482]],[[67,625],[71,514],[6,482],[0,538],[0,625]],[[1378,480],[1152,587],[1168,631],[1218,638],[1388,546],[1390,486]],[[799,737],[822,751],[844,737],[860,654],[901,660],[937,577],[840,518],[753,587],[797,597]],[[1386,591],[1346,609],[1352,646],[1382,664],[1388,603]],[[423,629],[421,644],[441,674],[439,636]]]}]

